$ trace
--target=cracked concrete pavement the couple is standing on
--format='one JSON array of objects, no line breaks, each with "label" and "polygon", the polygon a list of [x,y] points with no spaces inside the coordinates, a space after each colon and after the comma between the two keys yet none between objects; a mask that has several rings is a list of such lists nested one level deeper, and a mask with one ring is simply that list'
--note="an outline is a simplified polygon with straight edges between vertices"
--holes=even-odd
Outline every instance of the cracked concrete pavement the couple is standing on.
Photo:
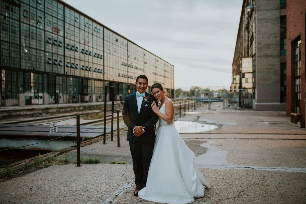
[{"label": "cracked concrete pavement the couple is standing on", "polygon": [[[213,106],[212,106],[213,107]],[[285,112],[203,106],[177,118],[218,128],[181,134],[212,188],[194,203],[306,203],[306,130]],[[132,195],[135,185],[128,142],[81,149],[102,164],[54,165],[0,183],[0,203],[153,203]],[[115,139],[116,137],[114,137]],[[71,151],[62,158],[74,159]],[[111,164],[125,161],[126,164]]]}]

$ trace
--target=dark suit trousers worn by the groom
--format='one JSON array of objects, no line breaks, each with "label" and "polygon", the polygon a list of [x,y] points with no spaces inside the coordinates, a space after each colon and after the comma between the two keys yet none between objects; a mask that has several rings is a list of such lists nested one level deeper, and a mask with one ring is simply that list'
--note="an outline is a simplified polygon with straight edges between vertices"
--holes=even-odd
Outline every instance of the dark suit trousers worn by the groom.
[{"label": "dark suit trousers worn by the groom", "polygon": [[133,160],[135,184],[137,186],[141,185],[142,187],[145,187],[147,185],[147,177],[154,150],[154,142],[144,143],[140,140],[136,142],[129,142],[129,145]]}]

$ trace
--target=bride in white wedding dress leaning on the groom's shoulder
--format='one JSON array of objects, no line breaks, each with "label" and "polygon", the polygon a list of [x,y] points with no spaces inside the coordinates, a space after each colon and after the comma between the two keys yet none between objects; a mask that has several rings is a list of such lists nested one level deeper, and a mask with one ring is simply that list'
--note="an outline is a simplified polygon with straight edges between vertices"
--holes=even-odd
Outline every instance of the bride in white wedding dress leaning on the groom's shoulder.
[{"label": "bride in white wedding dress leaning on the groom's shoulder", "polygon": [[159,107],[152,102],[152,110],[159,116],[159,126],[151,160],[147,186],[138,196],[153,202],[185,204],[204,196],[211,188],[193,163],[195,154],[186,146],[174,127],[174,103],[166,97],[160,83],[151,87]]}]

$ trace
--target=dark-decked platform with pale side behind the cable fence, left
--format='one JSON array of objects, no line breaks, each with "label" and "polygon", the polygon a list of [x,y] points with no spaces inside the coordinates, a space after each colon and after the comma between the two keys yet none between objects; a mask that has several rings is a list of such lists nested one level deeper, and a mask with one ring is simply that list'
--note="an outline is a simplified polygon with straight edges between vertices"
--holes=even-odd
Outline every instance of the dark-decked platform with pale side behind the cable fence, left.
[{"label": "dark-decked platform with pale side behind the cable fence, left", "polygon": [[[117,130],[114,125],[113,131]],[[76,125],[58,125],[58,132],[49,132],[49,125],[0,124],[0,148],[28,150],[60,150],[76,144]],[[111,126],[106,127],[106,134]],[[104,135],[103,126],[80,126],[80,140]],[[49,141],[51,140],[51,141]],[[47,141],[47,142],[46,142]]]}]

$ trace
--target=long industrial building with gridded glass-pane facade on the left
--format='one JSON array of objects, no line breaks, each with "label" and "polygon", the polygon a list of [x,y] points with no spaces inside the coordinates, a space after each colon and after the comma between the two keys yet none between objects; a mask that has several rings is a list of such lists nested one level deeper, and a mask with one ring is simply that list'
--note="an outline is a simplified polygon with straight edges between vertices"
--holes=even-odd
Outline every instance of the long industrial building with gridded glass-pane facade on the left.
[{"label": "long industrial building with gridded glass-pane facade on the left", "polygon": [[1,106],[123,100],[141,74],[174,96],[174,65],[63,1],[1,0],[0,29]]}]

